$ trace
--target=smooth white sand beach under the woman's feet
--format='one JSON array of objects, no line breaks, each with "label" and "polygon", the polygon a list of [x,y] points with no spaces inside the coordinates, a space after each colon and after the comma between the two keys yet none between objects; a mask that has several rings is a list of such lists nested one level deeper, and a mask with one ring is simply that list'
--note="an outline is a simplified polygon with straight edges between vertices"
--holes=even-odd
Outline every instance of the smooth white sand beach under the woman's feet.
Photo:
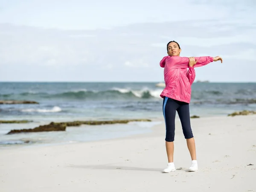
[{"label": "smooth white sand beach under the woman's feet", "polygon": [[[166,167],[165,127],[151,134],[0,151],[0,192],[256,192],[256,115],[192,119],[198,172],[179,121],[175,166]],[[247,166],[248,164],[253,166]]]}]

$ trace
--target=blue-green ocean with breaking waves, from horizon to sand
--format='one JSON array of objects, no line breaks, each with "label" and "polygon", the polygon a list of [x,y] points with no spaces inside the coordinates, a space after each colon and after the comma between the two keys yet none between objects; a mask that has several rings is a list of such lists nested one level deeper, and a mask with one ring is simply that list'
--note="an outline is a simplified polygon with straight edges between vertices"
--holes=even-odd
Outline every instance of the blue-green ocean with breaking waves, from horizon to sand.
[{"label": "blue-green ocean with breaking waves, from horizon to sand", "polygon": [[[39,102],[0,105],[1,120],[32,121],[26,124],[0,124],[0,145],[73,143],[145,133],[150,131],[151,126],[160,123],[157,119],[163,117],[163,99],[159,96],[163,87],[156,87],[157,83],[0,82],[0,100]],[[227,116],[241,110],[256,110],[256,83],[192,84],[191,116]],[[125,125],[82,125],[67,127],[67,131],[63,132],[6,135],[11,129],[35,128],[49,122],[113,119],[153,121]]]}]

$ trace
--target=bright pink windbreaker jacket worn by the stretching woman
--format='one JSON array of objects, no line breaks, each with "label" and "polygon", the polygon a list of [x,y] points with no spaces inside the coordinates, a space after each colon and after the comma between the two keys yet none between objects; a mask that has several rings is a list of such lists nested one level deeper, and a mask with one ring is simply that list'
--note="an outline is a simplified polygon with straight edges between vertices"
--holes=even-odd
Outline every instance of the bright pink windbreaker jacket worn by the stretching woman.
[{"label": "bright pink windbreaker jacket worn by the stretching woman", "polygon": [[[195,60],[197,60],[197,63],[194,67],[201,67],[212,62],[213,57],[195,57]],[[160,61],[160,66],[164,67],[164,81],[166,84],[160,96],[190,103],[191,85],[195,80],[195,69],[189,67],[189,58],[168,55]]]}]

